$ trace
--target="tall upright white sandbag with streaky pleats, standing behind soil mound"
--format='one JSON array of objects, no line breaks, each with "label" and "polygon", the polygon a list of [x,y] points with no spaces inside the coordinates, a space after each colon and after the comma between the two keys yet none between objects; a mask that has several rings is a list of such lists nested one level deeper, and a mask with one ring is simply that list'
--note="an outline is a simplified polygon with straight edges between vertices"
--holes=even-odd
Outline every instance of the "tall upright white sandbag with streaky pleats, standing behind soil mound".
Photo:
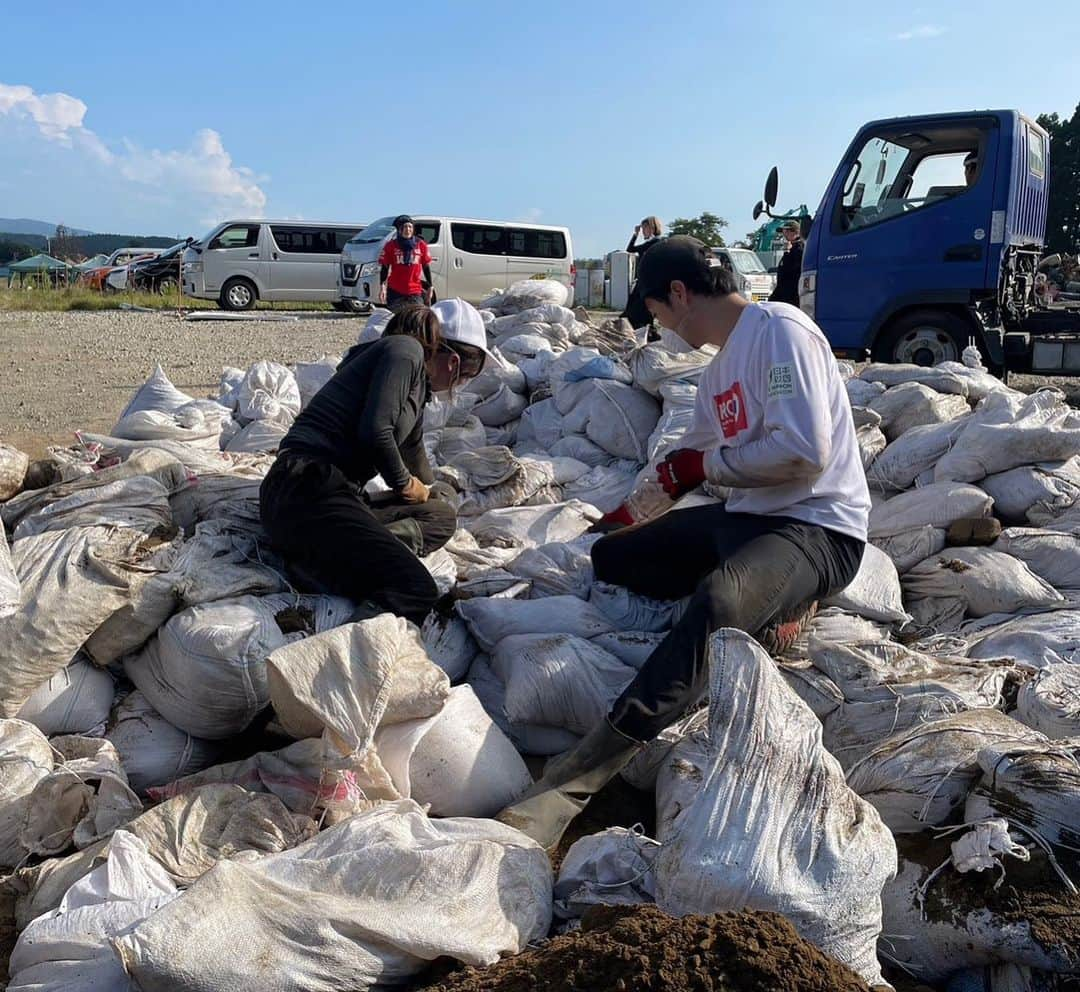
[{"label": "tall upright white sandbag with streaky pleats, standing behind soil mound", "polygon": [[892,837],[822,746],[821,724],[741,630],[708,642],[708,743],[698,796],[657,857],[657,905],[675,915],[771,910],[882,981],[880,893]]}]

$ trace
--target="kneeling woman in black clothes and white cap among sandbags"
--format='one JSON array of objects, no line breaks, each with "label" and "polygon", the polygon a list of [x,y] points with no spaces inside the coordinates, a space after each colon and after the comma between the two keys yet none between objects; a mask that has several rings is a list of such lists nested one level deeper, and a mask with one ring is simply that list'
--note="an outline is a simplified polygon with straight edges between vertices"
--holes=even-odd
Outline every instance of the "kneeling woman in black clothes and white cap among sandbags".
[{"label": "kneeling woman in black clothes and white cap among sandbags", "polygon": [[[423,449],[432,390],[478,375],[484,322],[461,300],[440,313],[396,313],[378,341],[359,344],[297,417],[259,490],[262,526],[309,592],[346,596],[422,623],[438,593],[418,556],[457,527]],[[381,475],[391,492],[367,497]]]}]

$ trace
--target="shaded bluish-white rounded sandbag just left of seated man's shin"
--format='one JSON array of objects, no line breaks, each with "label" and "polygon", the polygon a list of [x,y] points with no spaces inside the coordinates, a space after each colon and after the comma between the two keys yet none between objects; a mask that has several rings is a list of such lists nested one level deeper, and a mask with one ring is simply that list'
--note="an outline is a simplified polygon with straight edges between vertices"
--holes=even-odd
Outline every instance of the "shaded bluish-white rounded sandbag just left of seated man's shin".
[{"label": "shaded bluish-white rounded sandbag just left of seated man's shin", "polygon": [[491,652],[491,668],[505,683],[511,721],[577,734],[607,716],[636,674],[603,648],[568,634],[505,637]]}]

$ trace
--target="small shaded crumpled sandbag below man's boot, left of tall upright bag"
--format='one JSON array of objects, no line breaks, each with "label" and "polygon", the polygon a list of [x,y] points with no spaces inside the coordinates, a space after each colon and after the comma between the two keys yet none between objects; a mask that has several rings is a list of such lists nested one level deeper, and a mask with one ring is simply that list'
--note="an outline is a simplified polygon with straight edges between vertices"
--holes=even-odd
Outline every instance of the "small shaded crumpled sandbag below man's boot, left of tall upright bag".
[{"label": "small shaded crumpled sandbag below man's boot, left of tall upright bag", "polygon": [[566,852],[555,883],[555,914],[573,920],[591,906],[642,906],[656,898],[660,844],[625,827],[580,838]]}]

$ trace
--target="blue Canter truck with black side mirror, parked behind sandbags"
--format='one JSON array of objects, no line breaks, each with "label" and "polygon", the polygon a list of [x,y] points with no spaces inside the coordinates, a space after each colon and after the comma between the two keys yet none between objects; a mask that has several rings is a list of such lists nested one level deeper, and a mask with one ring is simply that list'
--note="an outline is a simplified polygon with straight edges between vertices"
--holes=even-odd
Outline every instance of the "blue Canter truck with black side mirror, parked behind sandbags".
[{"label": "blue Canter truck with black side mirror, parked behind sandbags", "polygon": [[866,124],[807,236],[801,308],[846,357],[933,365],[973,341],[998,371],[1080,373],[1080,310],[1036,297],[1049,165],[1015,110]]}]

